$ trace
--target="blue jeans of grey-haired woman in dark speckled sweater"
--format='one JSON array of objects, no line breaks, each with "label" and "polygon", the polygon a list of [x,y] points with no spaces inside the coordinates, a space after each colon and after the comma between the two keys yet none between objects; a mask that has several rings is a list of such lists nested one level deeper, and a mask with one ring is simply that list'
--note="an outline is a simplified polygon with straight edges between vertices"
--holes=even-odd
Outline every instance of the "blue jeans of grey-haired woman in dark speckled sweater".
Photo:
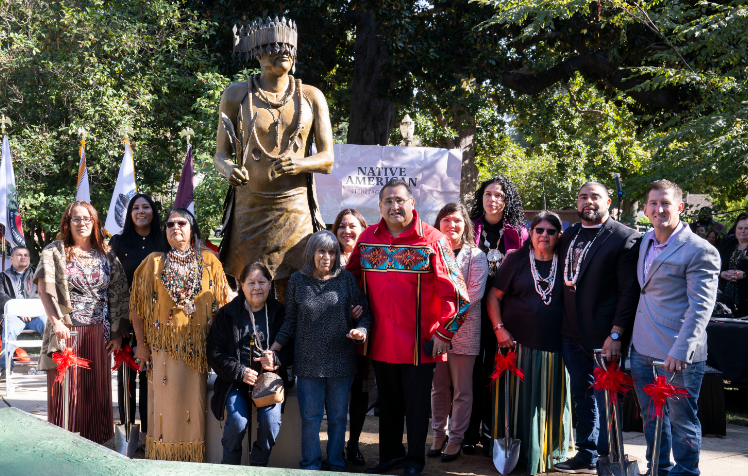
[{"label": "blue jeans of grey-haired woman in dark speckled sweater", "polygon": [[[345,426],[350,377],[296,377],[301,412],[301,469],[344,471]],[[327,410],[327,459],[322,461],[319,429]]]}]

